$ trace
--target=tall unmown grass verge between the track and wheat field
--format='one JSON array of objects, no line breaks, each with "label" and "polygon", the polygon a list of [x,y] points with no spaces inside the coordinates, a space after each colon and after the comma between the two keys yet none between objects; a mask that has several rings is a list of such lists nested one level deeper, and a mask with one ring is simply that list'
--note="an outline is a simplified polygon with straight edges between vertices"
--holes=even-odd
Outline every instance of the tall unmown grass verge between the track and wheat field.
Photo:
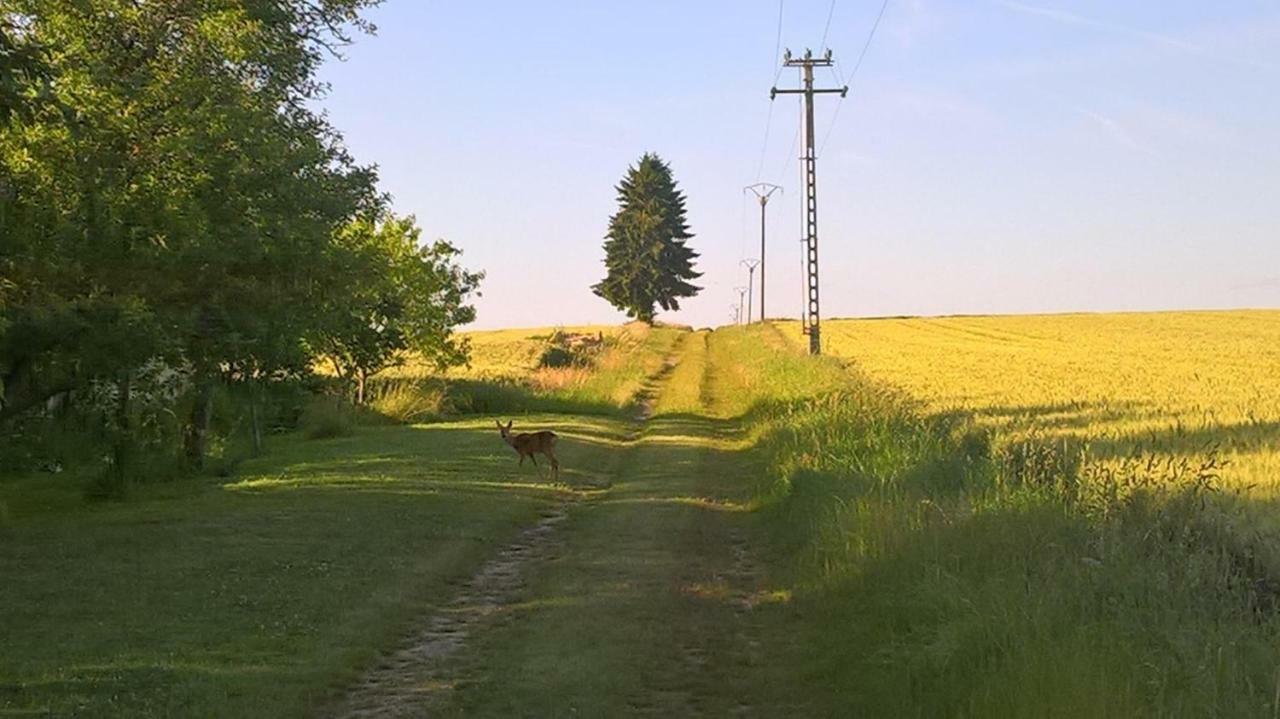
[{"label": "tall unmown grass verge between the track and wheat field", "polygon": [[769,551],[806,617],[788,660],[832,687],[832,711],[1280,709],[1276,595],[1208,502],[1216,459],[993,441],[769,331],[717,333],[712,353],[735,357],[722,407],[756,438]]}]

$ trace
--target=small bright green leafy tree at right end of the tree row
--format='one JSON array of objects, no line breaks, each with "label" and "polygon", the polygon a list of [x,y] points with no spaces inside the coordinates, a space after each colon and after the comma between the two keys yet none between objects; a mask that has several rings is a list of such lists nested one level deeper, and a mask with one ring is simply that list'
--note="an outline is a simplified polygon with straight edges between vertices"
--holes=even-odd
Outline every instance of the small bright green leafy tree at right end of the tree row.
[{"label": "small bright green leafy tree at right end of the tree row", "polygon": [[365,383],[399,365],[407,352],[439,368],[466,360],[453,329],[475,320],[466,301],[483,278],[457,265],[461,252],[444,241],[420,242],[413,217],[358,219],[338,233],[333,270],[340,288],[326,301],[329,320],[315,333],[316,348],[338,376],[365,400]]}]

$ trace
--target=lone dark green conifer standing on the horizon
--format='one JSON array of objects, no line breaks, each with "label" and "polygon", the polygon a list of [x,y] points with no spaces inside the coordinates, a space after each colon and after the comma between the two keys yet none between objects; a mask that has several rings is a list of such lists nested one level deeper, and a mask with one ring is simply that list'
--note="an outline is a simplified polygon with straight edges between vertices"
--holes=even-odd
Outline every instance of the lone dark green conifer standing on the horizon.
[{"label": "lone dark green conifer standing on the horizon", "polygon": [[591,287],[628,317],[653,322],[655,308],[680,310],[680,298],[701,289],[690,280],[698,253],[685,242],[694,235],[685,221],[685,194],[671,168],[646,152],[618,183],[618,211],[604,241],[605,278]]}]

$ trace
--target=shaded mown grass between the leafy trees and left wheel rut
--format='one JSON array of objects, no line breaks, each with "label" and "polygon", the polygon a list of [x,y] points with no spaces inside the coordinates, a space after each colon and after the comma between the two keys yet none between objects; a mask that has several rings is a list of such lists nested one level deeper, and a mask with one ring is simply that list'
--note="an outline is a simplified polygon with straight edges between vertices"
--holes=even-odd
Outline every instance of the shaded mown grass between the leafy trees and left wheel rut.
[{"label": "shaded mown grass between the leafy trees and left wheel rut", "polygon": [[[554,423],[566,482],[607,478],[607,418]],[[0,482],[0,714],[314,715],[566,485],[488,420],[273,441],[230,480],[86,504]]]}]

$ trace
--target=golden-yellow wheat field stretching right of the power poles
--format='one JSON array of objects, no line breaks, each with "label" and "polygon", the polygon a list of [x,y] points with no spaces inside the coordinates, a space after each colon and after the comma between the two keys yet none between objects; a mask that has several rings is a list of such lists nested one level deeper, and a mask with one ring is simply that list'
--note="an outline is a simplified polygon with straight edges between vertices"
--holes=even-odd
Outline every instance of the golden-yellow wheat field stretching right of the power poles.
[{"label": "golden-yellow wheat field stretching right of the power poles", "polygon": [[1078,438],[1101,459],[1217,446],[1224,478],[1280,495],[1280,311],[835,320],[823,339],[1005,438]]}]

